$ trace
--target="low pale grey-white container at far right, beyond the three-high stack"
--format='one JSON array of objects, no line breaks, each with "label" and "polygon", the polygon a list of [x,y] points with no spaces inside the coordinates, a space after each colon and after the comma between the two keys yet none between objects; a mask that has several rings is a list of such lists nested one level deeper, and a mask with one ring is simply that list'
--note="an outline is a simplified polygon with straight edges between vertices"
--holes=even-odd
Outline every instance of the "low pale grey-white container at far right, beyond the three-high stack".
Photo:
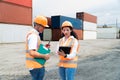
[{"label": "low pale grey-white container at far right, beyond the three-high stack", "polygon": [[117,29],[116,28],[97,28],[98,39],[116,39]]}]

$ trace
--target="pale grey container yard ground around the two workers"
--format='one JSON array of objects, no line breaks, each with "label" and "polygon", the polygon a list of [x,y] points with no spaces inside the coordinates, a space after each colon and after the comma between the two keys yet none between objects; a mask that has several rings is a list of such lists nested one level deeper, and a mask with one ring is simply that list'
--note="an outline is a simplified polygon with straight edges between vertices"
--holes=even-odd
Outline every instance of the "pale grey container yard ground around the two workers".
[{"label": "pale grey container yard ground around the two workers", "polygon": [[[48,41],[44,41],[46,44]],[[120,80],[120,40],[80,40],[75,80]],[[51,58],[46,63],[45,80],[60,80],[56,44],[51,42]],[[0,44],[0,80],[31,80],[25,68],[25,44]]]}]

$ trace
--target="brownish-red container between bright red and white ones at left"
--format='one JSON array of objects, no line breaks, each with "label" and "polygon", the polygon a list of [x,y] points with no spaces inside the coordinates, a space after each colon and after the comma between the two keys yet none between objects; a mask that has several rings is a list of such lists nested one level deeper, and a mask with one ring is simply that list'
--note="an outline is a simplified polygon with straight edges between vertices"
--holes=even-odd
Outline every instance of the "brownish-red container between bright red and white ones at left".
[{"label": "brownish-red container between bright red and white ones at left", "polygon": [[0,2],[0,22],[32,25],[32,9]]}]

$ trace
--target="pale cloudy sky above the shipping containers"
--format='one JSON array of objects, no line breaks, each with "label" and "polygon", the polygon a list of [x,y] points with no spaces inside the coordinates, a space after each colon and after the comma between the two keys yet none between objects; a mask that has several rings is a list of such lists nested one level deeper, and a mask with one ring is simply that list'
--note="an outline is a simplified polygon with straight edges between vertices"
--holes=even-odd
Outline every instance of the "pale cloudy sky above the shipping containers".
[{"label": "pale cloudy sky above the shipping containers", "polygon": [[37,15],[76,18],[77,12],[97,16],[98,25],[120,24],[120,0],[33,0],[33,18]]}]

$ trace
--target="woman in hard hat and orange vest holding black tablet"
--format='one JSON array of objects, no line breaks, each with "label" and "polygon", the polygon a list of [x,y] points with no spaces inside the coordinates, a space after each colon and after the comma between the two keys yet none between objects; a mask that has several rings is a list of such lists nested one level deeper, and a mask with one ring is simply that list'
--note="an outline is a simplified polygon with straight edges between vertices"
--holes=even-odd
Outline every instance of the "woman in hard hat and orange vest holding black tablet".
[{"label": "woman in hard hat and orange vest holding black tablet", "polygon": [[[69,21],[63,22],[61,31],[62,38],[59,40],[57,48],[57,53],[60,59],[58,63],[59,74],[62,80],[74,80],[78,60],[77,53],[79,48],[77,35],[73,31],[73,26]],[[70,53],[65,53],[66,51],[64,50],[59,50],[60,47],[70,47]]]}]

